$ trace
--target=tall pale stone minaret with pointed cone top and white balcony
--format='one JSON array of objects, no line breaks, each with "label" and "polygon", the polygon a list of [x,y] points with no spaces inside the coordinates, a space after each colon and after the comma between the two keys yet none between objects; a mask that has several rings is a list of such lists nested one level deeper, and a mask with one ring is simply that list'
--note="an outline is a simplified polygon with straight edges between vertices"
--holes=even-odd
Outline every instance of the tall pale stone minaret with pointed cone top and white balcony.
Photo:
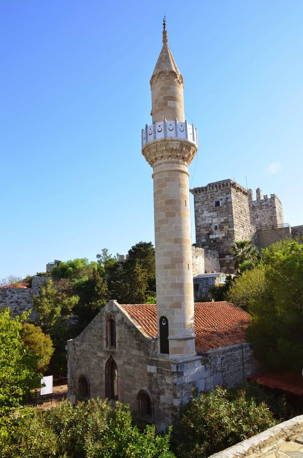
[{"label": "tall pale stone minaret with pointed cone top and white balcony", "polygon": [[188,166],[198,150],[195,126],[184,121],[183,77],[163,46],[151,76],[152,124],[142,129],[142,154],[153,168],[158,357],[194,358],[194,292]]}]

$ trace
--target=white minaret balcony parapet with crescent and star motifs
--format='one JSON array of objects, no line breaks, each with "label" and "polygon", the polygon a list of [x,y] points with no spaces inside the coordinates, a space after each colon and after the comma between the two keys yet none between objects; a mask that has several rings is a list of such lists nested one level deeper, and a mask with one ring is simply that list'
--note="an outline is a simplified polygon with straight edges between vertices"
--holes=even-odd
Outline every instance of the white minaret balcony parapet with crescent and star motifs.
[{"label": "white minaret balcony parapet with crescent and star motifs", "polygon": [[165,118],[162,122],[153,122],[151,125],[145,125],[141,131],[142,148],[155,140],[187,140],[198,148],[198,134],[194,124],[188,124],[187,121],[179,122],[177,119],[167,121]]}]

